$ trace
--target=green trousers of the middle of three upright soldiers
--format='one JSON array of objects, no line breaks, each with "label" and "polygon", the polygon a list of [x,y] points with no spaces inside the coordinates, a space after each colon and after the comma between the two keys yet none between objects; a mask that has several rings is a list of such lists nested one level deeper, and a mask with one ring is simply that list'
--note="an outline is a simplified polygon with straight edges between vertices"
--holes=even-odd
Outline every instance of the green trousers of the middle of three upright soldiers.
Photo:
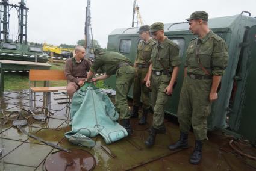
[{"label": "green trousers of the middle of three upright soldiers", "polygon": [[164,124],[164,105],[166,104],[169,96],[164,93],[164,89],[169,85],[169,75],[155,75],[151,76],[151,98],[153,114],[153,127],[159,129]]}]

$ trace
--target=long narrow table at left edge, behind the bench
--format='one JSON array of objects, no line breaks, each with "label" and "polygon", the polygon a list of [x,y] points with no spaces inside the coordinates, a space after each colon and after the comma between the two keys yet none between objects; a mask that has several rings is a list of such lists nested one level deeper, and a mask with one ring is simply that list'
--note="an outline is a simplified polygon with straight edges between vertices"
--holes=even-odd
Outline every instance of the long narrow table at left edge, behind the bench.
[{"label": "long narrow table at left edge, behind the bench", "polygon": [[12,60],[0,60],[0,96],[4,92],[4,71],[5,70],[30,70],[30,69],[46,69],[51,67],[48,63],[35,63],[28,61],[12,61]]}]

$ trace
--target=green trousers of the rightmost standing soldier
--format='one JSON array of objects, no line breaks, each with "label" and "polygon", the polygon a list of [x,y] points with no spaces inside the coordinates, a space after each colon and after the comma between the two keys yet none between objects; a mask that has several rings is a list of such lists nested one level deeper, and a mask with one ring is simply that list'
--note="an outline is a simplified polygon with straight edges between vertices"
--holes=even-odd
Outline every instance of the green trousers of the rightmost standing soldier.
[{"label": "green trousers of the rightmost standing soldier", "polygon": [[211,111],[209,93],[211,79],[191,79],[186,76],[178,107],[180,131],[188,133],[192,125],[196,140],[207,140],[207,116]]}]

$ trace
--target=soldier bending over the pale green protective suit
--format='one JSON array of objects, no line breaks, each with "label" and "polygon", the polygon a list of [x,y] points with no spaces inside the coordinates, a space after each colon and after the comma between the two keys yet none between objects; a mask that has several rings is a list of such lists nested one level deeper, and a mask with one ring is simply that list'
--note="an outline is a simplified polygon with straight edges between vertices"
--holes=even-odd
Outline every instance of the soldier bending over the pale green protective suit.
[{"label": "soldier bending over the pale green protective suit", "polygon": [[[127,95],[133,84],[135,69],[131,61],[117,52],[104,52],[102,48],[95,49],[95,61],[87,74],[86,81],[99,81],[116,74],[116,111],[120,114],[120,124],[126,129],[128,135],[133,131],[130,125],[130,110]],[[93,74],[100,69],[105,74],[92,78]],[[90,80],[92,78],[92,80]]]}]

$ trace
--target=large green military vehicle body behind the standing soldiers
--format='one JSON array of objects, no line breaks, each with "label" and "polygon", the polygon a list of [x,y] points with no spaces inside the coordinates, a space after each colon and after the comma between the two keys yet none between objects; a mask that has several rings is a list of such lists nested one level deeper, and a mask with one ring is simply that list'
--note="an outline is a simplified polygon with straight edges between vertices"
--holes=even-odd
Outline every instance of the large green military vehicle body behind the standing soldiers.
[{"label": "large green military vehicle body behind the standing soldiers", "polygon": [[[214,102],[211,115],[208,117],[208,129],[223,129],[234,135],[247,138],[256,143],[256,18],[243,14],[217,17],[208,20],[214,33],[224,39],[229,48],[229,62],[222,78],[219,99]],[[116,51],[130,58],[136,58],[139,28],[120,28],[108,36],[108,51]],[[178,73],[178,85],[172,98],[169,98],[165,111],[176,116],[181,85],[183,83],[186,49],[195,36],[189,30],[188,22],[167,23],[164,25],[166,36],[180,47],[180,58],[183,64]],[[115,88],[114,76],[105,81],[105,85]],[[131,90],[132,91],[132,90]],[[130,97],[131,97],[130,91]]]}]

